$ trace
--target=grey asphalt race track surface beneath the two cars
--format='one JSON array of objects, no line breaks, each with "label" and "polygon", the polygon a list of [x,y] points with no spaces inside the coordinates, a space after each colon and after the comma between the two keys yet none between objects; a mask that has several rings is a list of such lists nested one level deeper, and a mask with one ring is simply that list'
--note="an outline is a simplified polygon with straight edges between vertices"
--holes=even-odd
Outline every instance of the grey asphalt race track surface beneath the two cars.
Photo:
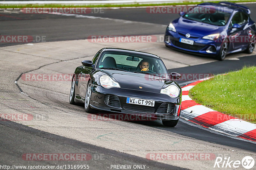
[{"label": "grey asphalt race track surface beneath the two cars", "polygon": [[[247,4],[256,21],[256,4]],[[31,114],[30,121],[0,121],[0,165],[145,165],[145,169],[216,169],[211,160],[149,160],[149,153],[209,153],[242,160],[256,158],[255,143],[207,131],[181,119],[169,128],[161,121],[90,121],[83,106],[68,103],[71,81],[27,81],[21,74],[72,74],[82,60],[103,47],[160,56],[169,72],[220,74],[256,65],[256,52],[236,53],[224,61],[166,48],[161,41],[178,14],[149,14],[145,8],[104,9],[81,15],[25,14],[0,10],[1,35],[44,37],[45,42],[0,43],[1,113]],[[150,35],[150,43],[90,42],[92,35]],[[15,83],[15,81],[17,83]],[[185,85],[190,80],[177,81]],[[27,153],[89,153],[87,161],[25,160]],[[214,157],[214,158],[215,158]],[[1,168],[0,168],[1,169]],[[18,168],[16,168],[18,169]],[[113,169],[113,168],[112,168]],[[136,168],[134,168],[136,169]],[[138,168],[137,168],[138,169]],[[242,166],[236,169],[243,169]]]}]

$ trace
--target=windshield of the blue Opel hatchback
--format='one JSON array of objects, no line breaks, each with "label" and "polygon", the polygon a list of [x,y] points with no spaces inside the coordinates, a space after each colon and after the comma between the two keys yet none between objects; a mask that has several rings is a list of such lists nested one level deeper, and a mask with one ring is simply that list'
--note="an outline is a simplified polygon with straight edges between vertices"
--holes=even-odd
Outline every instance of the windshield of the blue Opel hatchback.
[{"label": "windshield of the blue Opel hatchback", "polygon": [[225,9],[204,6],[196,6],[183,16],[183,18],[186,19],[217,26],[226,25],[229,17],[230,13],[228,13]]}]

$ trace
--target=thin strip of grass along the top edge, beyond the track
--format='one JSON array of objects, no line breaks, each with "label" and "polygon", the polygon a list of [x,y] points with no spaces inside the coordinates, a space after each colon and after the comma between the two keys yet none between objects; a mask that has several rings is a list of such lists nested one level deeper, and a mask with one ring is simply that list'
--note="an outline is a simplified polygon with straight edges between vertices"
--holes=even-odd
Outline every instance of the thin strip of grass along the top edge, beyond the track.
[{"label": "thin strip of grass along the top edge, beyond the track", "polygon": [[[170,6],[170,5],[190,5],[200,4],[201,2],[180,2],[180,3],[165,3],[165,4],[99,4],[99,5],[75,5],[75,4],[0,4],[0,8],[26,8],[26,7],[45,7],[45,8],[58,8],[58,7],[87,7],[87,8],[100,8],[100,7],[139,7],[139,6]],[[220,1],[207,1],[218,3]],[[238,0],[229,1],[234,3],[239,2],[256,2],[255,0]]]}]

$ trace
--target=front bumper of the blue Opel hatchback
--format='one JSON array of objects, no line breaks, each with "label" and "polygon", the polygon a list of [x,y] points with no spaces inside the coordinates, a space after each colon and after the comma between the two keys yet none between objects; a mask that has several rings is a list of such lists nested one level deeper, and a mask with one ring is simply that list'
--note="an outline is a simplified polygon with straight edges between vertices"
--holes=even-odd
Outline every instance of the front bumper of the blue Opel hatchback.
[{"label": "front bumper of the blue Opel hatchback", "polygon": [[[193,40],[194,44],[189,45],[180,42],[180,38]],[[190,37],[186,38],[184,33],[166,30],[164,36],[164,43],[166,46],[174,47],[181,51],[186,51],[190,53],[199,53],[202,55],[216,56],[221,47],[221,42],[216,42],[208,39],[202,39],[201,37]]]}]

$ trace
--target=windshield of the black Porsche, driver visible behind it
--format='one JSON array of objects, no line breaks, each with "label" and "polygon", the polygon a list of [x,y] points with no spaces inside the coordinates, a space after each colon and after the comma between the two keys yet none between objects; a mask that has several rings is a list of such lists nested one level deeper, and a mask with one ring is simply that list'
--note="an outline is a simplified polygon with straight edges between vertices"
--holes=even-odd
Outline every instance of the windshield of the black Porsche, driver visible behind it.
[{"label": "windshield of the black Porsche, driver visible behind it", "polygon": [[[142,66],[143,65],[143,66]],[[148,68],[142,70],[144,67]],[[96,68],[116,69],[129,72],[152,74],[154,77],[169,78],[168,71],[162,60],[145,54],[103,52]],[[153,78],[153,77],[152,77]]]}]

